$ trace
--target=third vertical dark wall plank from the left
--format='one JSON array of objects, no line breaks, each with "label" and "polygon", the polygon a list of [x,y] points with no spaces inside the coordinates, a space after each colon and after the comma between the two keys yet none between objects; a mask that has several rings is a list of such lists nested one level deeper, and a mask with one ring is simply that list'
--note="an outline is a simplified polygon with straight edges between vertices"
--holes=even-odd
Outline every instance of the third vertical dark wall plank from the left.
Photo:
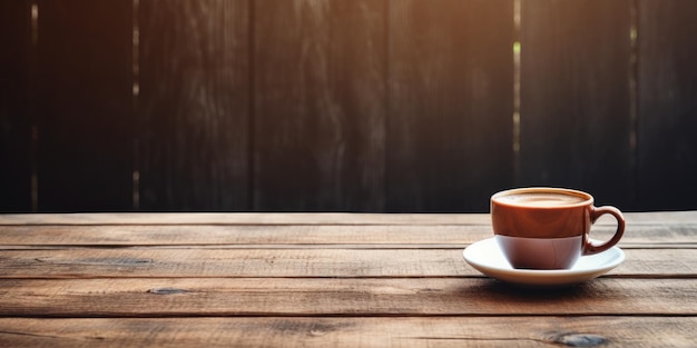
[{"label": "third vertical dark wall plank from the left", "polygon": [[139,2],[141,209],[249,209],[248,7]]}]

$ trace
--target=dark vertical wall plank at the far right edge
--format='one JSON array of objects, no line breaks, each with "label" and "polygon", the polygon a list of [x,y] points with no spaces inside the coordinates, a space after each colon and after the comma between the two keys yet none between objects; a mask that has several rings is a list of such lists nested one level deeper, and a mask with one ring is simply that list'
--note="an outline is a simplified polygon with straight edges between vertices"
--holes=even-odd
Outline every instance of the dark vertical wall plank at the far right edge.
[{"label": "dark vertical wall plank at the far right edge", "polygon": [[697,209],[695,18],[695,1],[639,1],[640,209]]}]

